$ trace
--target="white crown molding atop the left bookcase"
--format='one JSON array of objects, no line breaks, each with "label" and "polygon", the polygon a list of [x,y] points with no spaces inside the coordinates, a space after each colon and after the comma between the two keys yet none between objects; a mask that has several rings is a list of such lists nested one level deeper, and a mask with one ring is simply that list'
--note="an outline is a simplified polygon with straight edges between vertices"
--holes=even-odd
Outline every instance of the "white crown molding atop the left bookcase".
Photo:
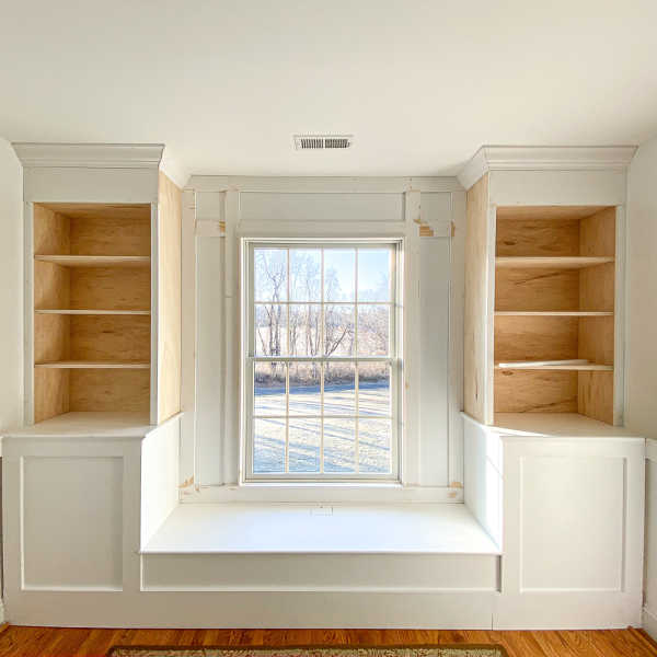
[{"label": "white crown molding atop the left bookcase", "polygon": [[189,172],[163,143],[12,143],[23,166],[160,170],[181,189]]}]

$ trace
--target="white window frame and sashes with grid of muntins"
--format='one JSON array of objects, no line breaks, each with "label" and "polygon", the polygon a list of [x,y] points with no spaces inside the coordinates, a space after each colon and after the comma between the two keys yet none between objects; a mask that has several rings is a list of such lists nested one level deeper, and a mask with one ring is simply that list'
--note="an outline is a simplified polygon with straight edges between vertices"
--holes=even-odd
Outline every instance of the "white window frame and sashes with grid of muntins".
[{"label": "white window frame and sashes with grid of muntins", "polygon": [[[391,241],[390,239],[367,239],[367,240],[332,240],[322,239],[316,241],[309,240],[243,240],[243,255],[245,267],[243,269],[243,290],[244,290],[244,308],[246,309],[246,316],[244,322],[244,369],[243,369],[243,387],[242,387],[242,399],[243,399],[243,439],[242,439],[242,461],[244,473],[242,480],[245,482],[276,482],[276,481],[296,481],[296,482],[376,482],[383,481],[387,483],[399,482],[401,473],[401,331],[399,327],[402,325],[402,311],[401,311],[401,290],[402,281],[399,276],[400,254],[402,252],[402,240]],[[256,338],[255,338],[255,276],[254,276],[254,264],[256,249],[281,249],[281,250],[324,250],[324,249],[355,249],[355,250],[367,250],[367,249],[390,249],[391,252],[391,272],[390,272],[390,320],[389,320],[389,354],[388,356],[358,356],[358,347],[356,344],[355,356],[255,356]],[[323,256],[322,256],[323,257]],[[289,256],[288,256],[289,263]],[[358,258],[356,258],[356,267],[358,267]],[[322,266],[322,288],[324,286],[324,270]],[[358,270],[356,269],[356,281],[358,280]],[[290,299],[290,276],[288,272],[287,277],[287,295],[286,301],[276,301],[276,304],[285,306],[287,309],[287,334],[288,334],[288,348],[289,348],[289,307],[295,304],[302,304],[303,302],[292,301]],[[356,284],[357,288],[357,284]],[[265,302],[266,303],[266,302]],[[358,307],[359,306],[372,306],[380,304],[380,302],[361,302],[358,301],[357,289],[355,291],[354,301],[325,301],[322,289],[321,301],[316,302],[321,306],[321,344],[322,354],[324,353],[324,308],[325,306],[353,306],[355,312],[355,321],[358,322]],[[358,331],[356,330],[356,341]],[[286,414],[275,416],[278,419],[286,420],[286,472],[283,473],[254,473],[253,469],[253,442],[254,442],[254,419],[267,418],[267,416],[258,415],[254,417],[254,371],[257,362],[273,362],[278,361],[287,364],[286,366]],[[295,362],[318,362],[321,367],[321,400],[322,411],[319,415],[293,415],[288,412],[289,410],[289,371],[290,364]],[[367,362],[387,362],[390,364],[390,415],[358,415],[358,406],[356,406],[356,413],[351,415],[339,415],[336,416],[339,419],[355,419],[356,426],[358,427],[358,420],[364,419],[390,419],[391,422],[391,464],[390,472],[388,473],[368,473],[358,471],[358,429],[356,429],[356,454],[355,472],[325,472],[324,471],[324,440],[323,440],[323,420],[332,419],[333,416],[324,414],[324,364],[325,362],[354,362],[356,369],[356,400],[359,399],[358,393],[358,369],[359,366]],[[358,401],[356,402],[358,404]],[[320,473],[298,473],[289,472],[289,419],[319,419],[321,427],[321,441],[320,441],[320,456],[321,456],[321,468]]]}]

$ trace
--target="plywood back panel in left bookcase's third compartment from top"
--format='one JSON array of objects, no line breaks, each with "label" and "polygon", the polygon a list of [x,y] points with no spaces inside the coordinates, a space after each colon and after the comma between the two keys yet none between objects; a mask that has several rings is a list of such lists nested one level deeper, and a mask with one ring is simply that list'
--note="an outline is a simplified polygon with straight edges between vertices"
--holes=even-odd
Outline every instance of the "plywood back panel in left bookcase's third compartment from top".
[{"label": "plywood back panel in left bookcase's third compartment from top", "polygon": [[150,361],[148,315],[72,315],[71,360]]}]

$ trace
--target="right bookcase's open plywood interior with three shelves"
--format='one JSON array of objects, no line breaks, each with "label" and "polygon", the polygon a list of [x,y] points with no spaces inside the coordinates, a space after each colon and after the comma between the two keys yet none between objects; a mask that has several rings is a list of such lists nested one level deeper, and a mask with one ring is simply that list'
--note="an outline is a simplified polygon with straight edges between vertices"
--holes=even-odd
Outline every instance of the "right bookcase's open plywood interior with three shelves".
[{"label": "right bookcase's open plywood interior with three shelves", "polygon": [[[613,424],[615,207],[497,207],[495,413]],[[586,364],[502,367],[581,359]]]}]

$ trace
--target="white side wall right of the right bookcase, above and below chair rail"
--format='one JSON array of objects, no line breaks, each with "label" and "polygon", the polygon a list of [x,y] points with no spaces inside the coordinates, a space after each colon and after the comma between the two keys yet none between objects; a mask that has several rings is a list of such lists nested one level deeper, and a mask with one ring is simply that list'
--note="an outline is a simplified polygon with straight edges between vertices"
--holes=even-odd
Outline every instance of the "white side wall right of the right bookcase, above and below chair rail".
[{"label": "white side wall right of the right bookcase, above and below chair rail", "polygon": [[[625,426],[657,438],[657,138],[627,178]],[[644,626],[657,638],[657,465],[648,461]]]}]

